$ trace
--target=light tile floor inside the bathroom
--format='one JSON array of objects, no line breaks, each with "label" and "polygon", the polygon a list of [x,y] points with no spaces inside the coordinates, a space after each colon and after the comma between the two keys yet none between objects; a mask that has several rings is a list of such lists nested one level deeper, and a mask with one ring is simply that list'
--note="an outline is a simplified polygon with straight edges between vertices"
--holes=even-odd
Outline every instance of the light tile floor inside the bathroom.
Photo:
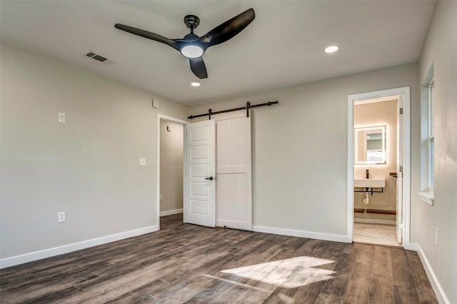
[{"label": "light tile floor inside the bathroom", "polygon": [[397,242],[395,225],[354,223],[353,241],[401,247]]}]

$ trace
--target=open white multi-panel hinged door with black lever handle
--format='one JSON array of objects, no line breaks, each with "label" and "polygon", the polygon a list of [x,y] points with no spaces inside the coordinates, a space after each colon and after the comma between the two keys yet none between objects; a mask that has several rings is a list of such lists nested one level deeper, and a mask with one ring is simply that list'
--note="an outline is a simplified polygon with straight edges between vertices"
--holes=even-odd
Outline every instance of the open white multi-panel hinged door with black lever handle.
[{"label": "open white multi-panel hinged door with black lever handle", "polygon": [[213,120],[186,125],[184,223],[215,226],[215,134]]}]

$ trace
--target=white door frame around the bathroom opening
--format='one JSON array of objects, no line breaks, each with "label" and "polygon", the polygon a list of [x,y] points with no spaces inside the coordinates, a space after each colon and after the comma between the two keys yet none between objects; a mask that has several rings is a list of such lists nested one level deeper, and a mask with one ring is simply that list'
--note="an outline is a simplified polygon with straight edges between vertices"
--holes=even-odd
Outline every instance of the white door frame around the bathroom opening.
[{"label": "white door frame around the bathroom opening", "polygon": [[380,98],[386,96],[403,96],[403,214],[402,214],[402,238],[403,248],[414,250],[415,247],[410,240],[410,210],[411,210],[411,88],[391,88],[381,91],[371,91],[348,96],[348,187],[347,187],[347,231],[348,242],[353,241],[354,226],[354,165],[353,165],[353,128],[354,128],[354,102],[363,99]]}]

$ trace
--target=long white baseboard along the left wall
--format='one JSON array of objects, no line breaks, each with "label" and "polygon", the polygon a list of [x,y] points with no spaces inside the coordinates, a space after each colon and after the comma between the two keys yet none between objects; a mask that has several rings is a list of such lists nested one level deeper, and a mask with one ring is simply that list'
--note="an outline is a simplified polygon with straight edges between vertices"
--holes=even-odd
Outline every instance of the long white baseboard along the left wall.
[{"label": "long white baseboard along the left wall", "polygon": [[49,248],[45,250],[36,251],[33,253],[26,253],[24,255],[16,255],[11,258],[3,258],[0,260],[0,269],[14,265],[24,264],[32,262],[34,260],[41,260],[42,258],[50,258],[51,256],[61,255],[63,253],[70,253],[72,251],[93,247],[96,245],[102,245],[111,243],[116,240],[123,240],[124,238],[131,238],[133,236],[142,235],[145,233],[151,233],[159,230],[159,226],[149,226],[136,230],[130,230],[122,233],[116,233],[112,235],[106,235],[101,238],[93,238],[91,240],[84,240],[79,243],[73,243],[69,245],[63,245],[55,248]]}]

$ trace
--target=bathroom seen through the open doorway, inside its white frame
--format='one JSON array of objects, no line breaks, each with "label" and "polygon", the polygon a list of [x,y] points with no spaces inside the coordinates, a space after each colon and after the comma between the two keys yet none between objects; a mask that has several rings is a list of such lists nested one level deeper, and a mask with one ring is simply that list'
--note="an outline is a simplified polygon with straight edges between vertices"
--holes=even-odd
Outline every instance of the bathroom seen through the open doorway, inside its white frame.
[{"label": "bathroom seen through the open doorway, inside its white frame", "polygon": [[[401,245],[396,236],[399,102],[400,96],[354,101],[354,242]],[[367,178],[384,185],[361,187]]]}]

